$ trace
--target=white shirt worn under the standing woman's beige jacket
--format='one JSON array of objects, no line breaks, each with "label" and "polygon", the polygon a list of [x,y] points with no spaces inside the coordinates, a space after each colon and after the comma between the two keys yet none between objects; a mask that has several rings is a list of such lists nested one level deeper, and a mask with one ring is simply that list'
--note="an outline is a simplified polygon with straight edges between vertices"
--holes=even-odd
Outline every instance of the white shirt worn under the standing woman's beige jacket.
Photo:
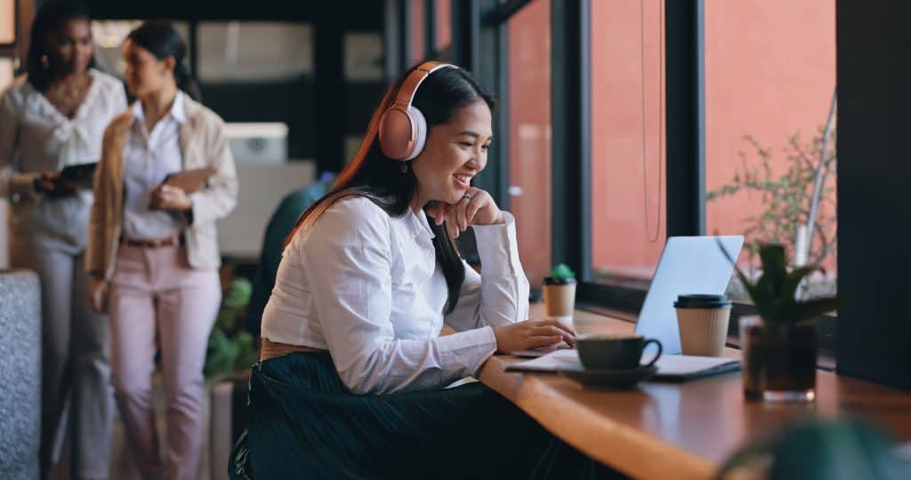
[{"label": "white shirt worn under the standing woman's beige jacket", "polygon": [[169,173],[183,169],[179,142],[180,126],[187,121],[183,95],[178,90],[170,112],[150,132],[142,102],[133,104],[133,129],[123,150],[123,235],[128,239],[163,239],[184,227],[179,214],[148,208],[152,189]]}]

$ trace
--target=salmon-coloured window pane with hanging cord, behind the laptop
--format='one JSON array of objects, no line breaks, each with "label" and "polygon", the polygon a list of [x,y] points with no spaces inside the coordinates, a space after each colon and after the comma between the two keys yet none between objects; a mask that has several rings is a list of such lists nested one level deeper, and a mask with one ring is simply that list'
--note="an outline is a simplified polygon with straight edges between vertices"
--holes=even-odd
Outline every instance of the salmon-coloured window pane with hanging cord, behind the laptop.
[{"label": "salmon-coloured window pane with hanging cord, behind the laptop", "polygon": [[[644,15],[642,15],[644,13]],[[660,2],[591,2],[591,261],[645,287],[665,239]]]}]

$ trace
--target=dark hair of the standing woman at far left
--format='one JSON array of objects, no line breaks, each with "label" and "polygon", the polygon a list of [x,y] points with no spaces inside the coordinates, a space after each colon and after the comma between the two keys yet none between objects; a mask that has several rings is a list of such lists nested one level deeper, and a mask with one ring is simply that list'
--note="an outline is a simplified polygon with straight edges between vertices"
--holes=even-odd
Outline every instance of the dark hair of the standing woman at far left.
[{"label": "dark hair of the standing woman at far left", "polygon": [[[41,58],[47,55],[47,37],[67,22],[67,20],[84,18],[91,20],[88,8],[78,0],[48,0],[38,8],[35,20],[32,22],[32,34],[26,53],[26,72],[28,83],[39,92],[44,92],[50,87],[53,72],[42,63]],[[95,66],[95,56],[88,63],[89,67]]]}]

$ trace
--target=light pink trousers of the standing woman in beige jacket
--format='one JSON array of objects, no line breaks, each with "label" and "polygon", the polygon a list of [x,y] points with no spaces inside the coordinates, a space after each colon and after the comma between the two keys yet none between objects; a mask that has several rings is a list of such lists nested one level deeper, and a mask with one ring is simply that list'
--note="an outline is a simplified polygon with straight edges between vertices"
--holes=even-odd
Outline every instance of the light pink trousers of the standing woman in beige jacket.
[{"label": "light pink trousers of the standing woman in beige jacket", "polygon": [[[145,478],[196,477],[204,428],[202,367],[220,301],[218,271],[190,268],[185,247],[120,245],[109,303],[111,377],[130,450]],[[152,406],[157,347],[168,429],[163,459]]]}]

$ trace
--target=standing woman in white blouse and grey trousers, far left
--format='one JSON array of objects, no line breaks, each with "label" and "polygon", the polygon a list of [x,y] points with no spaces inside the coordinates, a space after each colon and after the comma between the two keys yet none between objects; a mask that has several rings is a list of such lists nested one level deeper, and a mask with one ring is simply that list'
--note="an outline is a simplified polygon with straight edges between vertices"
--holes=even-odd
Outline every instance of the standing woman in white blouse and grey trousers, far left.
[{"label": "standing woman in white blouse and grey trousers, far left", "polygon": [[97,162],[105,127],[127,107],[119,80],[92,67],[93,45],[83,5],[47,2],[32,26],[27,74],[0,99],[0,194],[13,206],[11,260],[41,281],[41,465],[46,472],[56,463],[54,445],[69,423],[77,478],[107,478],[113,402],[107,319],[89,308],[83,267],[91,176],[69,181],[59,171]]}]

